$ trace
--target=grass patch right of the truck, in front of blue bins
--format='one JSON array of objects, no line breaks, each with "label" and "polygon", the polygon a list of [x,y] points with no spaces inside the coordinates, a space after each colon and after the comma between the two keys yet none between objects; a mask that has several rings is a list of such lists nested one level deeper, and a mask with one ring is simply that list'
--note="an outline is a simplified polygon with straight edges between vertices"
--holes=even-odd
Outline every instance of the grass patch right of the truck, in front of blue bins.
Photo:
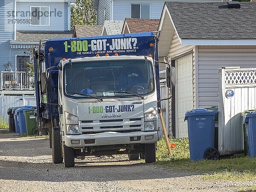
[{"label": "grass patch right of the truck, in front of blue bins", "polygon": [[[256,179],[256,158],[237,157],[221,160],[189,160],[188,139],[170,139],[175,143],[172,156],[169,156],[165,140],[157,143],[157,164],[172,167],[178,171],[200,172],[209,180],[254,180]],[[214,172],[213,175],[209,175]]]}]

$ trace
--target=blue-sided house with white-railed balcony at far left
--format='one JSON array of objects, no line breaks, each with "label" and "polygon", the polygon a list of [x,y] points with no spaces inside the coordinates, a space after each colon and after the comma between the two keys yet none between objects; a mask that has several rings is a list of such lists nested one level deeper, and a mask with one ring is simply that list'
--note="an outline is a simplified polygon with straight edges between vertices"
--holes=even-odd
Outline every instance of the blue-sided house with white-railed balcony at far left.
[{"label": "blue-sided house with white-railed balcony at far left", "polygon": [[[75,0],[1,0],[0,2],[0,71],[1,90],[29,89],[21,78],[27,52],[38,47],[40,39],[72,37],[70,3]],[[20,80],[13,79],[19,76]],[[27,78],[27,77],[26,77]],[[10,81],[12,79],[12,81]],[[15,80],[15,81],[14,81]],[[23,82],[18,82],[23,80]]]}]

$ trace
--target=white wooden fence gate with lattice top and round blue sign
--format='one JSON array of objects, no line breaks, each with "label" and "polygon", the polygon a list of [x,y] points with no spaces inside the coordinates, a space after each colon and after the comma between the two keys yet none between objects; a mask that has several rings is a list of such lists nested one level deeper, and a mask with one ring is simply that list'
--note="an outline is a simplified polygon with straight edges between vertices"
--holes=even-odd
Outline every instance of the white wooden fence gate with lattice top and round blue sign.
[{"label": "white wooden fence gate with lattice top and round blue sign", "polygon": [[256,68],[219,70],[219,152],[244,150],[241,112],[256,109]]}]

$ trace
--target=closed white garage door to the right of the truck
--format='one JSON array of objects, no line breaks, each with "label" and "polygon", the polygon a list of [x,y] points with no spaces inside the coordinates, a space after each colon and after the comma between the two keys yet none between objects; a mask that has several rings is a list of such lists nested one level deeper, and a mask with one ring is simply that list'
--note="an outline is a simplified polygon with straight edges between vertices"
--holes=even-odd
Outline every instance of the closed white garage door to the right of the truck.
[{"label": "closed white garage door to the right of the truck", "polygon": [[192,54],[176,60],[176,137],[188,137],[187,122],[184,122],[186,111],[193,109],[193,70]]}]

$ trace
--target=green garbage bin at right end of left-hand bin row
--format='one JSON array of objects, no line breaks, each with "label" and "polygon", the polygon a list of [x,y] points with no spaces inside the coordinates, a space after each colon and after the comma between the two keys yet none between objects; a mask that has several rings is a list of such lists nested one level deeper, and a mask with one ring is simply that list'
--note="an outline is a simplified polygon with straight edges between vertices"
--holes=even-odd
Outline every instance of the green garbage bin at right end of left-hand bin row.
[{"label": "green garbage bin at right end of left-hand bin row", "polygon": [[35,109],[25,110],[24,116],[26,121],[26,132],[29,135],[35,135],[37,133],[37,126],[35,121]]}]

